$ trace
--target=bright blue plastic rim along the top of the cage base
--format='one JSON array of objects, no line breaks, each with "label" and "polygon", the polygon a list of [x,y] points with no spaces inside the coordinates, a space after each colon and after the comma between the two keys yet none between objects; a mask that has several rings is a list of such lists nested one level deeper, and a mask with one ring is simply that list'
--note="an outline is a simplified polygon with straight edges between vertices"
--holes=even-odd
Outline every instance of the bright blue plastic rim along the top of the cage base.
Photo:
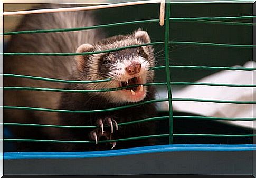
[{"label": "bright blue plastic rim along the top of the cage base", "polygon": [[144,153],[180,151],[253,151],[256,144],[216,145],[216,144],[173,144],[136,147],[131,149],[87,151],[87,152],[5,152],[4,160],[10,159],[76,159],[89,157],[125,156]]}]

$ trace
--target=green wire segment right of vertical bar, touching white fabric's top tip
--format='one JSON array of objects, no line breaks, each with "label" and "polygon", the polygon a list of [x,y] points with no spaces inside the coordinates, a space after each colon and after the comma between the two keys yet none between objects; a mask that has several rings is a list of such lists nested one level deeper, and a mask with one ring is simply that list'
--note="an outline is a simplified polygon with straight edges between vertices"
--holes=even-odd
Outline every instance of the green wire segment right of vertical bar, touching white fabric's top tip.
[{"label": "green wire segment right of vertical bar, touching white fabric's top tip", "polygon": [[210,70],[231,70],[231,71],[254,71],[256,68],[245,67],[211,67],[211,66],[192,66],[192,65],[171,65],[172,68],[191,68],[191,69],[210,69]]}]

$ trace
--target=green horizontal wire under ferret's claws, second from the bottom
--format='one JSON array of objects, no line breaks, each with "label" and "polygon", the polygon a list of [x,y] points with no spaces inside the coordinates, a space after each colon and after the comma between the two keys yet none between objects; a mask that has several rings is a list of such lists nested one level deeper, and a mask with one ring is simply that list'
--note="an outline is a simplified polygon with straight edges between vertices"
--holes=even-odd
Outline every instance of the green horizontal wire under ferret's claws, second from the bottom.
[{"label": "green horizontal wire under ferret's claws, second from the bottom", "polygon": [[[142,120],[129,121],[119,123],[119,126],[130,125],[149,121],[167,120],[169,116],[151,117]],[[206,116],[173,116],[175,119],[200,119],[200,120],[215,120],[215,121],[256,121],[256,118],[227,118],[227,117],[206,117]],[[4,123],[4,126],[30,126],[30,127],[54,127],[54,128],[97,128],[98,126],[67,126],[67,125],[47,125],[47,124],[27,124],[27,123]],[[109,127],[109,126],[108,126]]]}]

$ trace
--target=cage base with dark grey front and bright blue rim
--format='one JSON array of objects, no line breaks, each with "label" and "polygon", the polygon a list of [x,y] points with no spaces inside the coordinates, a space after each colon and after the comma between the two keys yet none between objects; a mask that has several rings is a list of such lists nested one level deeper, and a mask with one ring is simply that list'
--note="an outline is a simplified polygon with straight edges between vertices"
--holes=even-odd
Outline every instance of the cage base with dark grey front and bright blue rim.
[{"label": "cage base with dark grey front and bright blue rim", "polygon": [[252,175],[255,144],[173,144],[90,152],[4,153],[4,175]]}]

